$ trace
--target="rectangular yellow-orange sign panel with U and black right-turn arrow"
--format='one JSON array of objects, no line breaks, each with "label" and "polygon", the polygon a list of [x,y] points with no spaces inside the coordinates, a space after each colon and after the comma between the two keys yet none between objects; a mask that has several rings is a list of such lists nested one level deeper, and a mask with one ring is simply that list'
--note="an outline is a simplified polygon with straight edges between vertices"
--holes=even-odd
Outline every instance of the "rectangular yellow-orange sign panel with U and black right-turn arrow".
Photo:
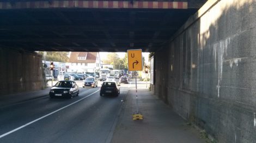
[{"label": "rectangular yellow-orange sign panel with U and black right-turn arrow", "polygon": [[128,70],[142,70],[142,50],[127,50],[128,54]]}]

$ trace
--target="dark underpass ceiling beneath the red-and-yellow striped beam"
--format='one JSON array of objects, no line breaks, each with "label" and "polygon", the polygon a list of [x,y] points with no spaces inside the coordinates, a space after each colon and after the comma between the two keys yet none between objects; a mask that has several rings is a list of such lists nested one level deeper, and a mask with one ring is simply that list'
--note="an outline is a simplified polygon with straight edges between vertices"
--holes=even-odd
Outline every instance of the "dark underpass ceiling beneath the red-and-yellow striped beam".
[{"label": "dark underpass ceiling beneath the red-and-yellow striped beam", "polygon": [[0,47],[28,51],[156,51],[197,9],[0,10]]}]

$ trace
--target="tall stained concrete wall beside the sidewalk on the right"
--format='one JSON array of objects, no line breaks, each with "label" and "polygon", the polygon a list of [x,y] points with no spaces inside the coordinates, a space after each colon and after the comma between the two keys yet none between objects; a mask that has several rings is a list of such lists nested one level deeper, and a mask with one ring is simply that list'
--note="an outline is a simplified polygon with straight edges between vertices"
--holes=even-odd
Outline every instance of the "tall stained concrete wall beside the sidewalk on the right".
[{"label": "tall stained concrete wall beside the sidewalk on the right", "polygon": [[157,51],[154,92],[218,142],[256,142],[256,1],[208,1]]}]

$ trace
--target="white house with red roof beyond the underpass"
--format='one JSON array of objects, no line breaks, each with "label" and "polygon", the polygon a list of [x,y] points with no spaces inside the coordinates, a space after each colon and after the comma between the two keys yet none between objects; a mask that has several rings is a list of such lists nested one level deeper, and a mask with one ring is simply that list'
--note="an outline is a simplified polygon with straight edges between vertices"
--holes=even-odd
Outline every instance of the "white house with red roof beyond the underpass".
[{"label": "white house with red roof beyond the underpass", "polygon": [[99,52],[71,52],[66,63],[68,73],[94,73],[101,68]]}]

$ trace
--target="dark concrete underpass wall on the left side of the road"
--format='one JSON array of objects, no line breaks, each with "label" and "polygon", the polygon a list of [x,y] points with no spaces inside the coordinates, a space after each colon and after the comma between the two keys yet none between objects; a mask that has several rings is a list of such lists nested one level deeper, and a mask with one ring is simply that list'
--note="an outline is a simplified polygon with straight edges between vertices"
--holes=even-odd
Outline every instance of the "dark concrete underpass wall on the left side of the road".
[{"label": "dark concrete underpass wall on the left side of the road", "polygon": [[0,67],[0,96],[44,87],[42,57],[38,54],[0,48]]}]

